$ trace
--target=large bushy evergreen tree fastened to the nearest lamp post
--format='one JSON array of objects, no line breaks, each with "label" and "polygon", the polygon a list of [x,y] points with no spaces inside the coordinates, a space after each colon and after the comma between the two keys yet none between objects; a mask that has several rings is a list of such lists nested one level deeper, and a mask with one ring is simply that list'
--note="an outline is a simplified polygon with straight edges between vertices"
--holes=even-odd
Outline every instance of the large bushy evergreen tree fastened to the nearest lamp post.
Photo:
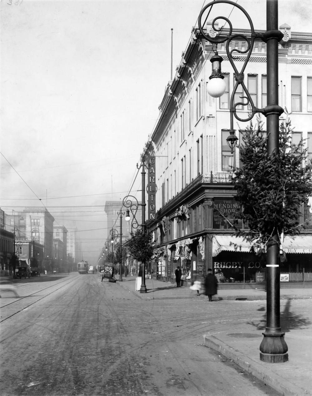
[{"label": "large bushy evergreen tree fastened to the nearest lamp post", "polygon": [[260,119],[256,128],[250,123],[240,144],[241,167],[235,169],[233,182],[241,206],[234,219],[243,220],[249,230],[236,228],[235,235],[252,242],[260,253],[276,243],[275,234],[282,253],[284,236],[299,234],[304,228],[299,208],[312,193],[311,164],[302,166],[307,149],[302,141],[291,143],[292,131],[290,120],[280,125],[279,155],[268,155]]}]

